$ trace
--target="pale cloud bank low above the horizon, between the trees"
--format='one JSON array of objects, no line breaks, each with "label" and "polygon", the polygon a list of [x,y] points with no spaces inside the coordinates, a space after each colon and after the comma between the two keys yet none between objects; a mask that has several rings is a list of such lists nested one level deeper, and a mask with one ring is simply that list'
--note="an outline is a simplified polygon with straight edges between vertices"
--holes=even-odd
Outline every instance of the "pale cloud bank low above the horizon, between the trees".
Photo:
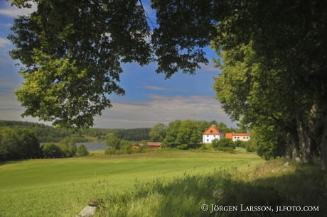
[{"label": "pale cloud bank low above the horizon, between the trees", "polygon": [[95,118],[98,128],[141,128],[175,120],[205,120],[236,126],[213,96],[149,95],[150,101],[114,103]]}]

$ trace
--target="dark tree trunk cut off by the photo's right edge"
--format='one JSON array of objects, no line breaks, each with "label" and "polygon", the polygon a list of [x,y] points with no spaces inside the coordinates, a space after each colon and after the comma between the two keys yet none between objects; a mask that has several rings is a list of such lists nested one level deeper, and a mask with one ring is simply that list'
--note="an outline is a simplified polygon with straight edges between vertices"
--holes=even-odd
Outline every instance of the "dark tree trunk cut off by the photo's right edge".
[{"label": "dark tree trunk cut off by the photo's right edge", "polygon": [[323,115],[321,117],[323,135],[321,138],[321,169],[327,172],[327,102],[323,102]]}]

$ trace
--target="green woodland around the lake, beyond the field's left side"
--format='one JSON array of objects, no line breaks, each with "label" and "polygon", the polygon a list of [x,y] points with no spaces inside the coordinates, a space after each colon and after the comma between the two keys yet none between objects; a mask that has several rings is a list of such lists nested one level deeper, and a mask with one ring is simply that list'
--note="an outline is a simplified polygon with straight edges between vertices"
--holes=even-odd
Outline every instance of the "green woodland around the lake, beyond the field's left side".
[{"label": "green woodland around the lake, beyond the field's left side", "polygon": [[[80,150],[81,145],[76,148],[76,143],[88,142],[87,135],[104,140],[105,135],[114,133],[119,140],[141,141],[149,140],[150,130],[88,128],[75,131],[43,123],[0,120],[0,160],[82,156],[87,150],[85,147]],[[40,147],[40,143],[45,144]]]}]

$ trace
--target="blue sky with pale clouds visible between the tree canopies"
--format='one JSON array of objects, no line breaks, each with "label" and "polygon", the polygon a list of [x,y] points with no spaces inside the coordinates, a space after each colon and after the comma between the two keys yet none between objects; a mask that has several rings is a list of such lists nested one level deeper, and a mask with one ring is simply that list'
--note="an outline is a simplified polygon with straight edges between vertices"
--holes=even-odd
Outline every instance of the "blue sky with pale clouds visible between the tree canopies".
[{"label": "blue sky with pale clouds visible between the tree canopies", "polygon": [[[149,3],[144,6],[149,17],[154,18],[155,12]],[[13,19],[33,10],[36,10],[35,5],[32,9],[18,9],[10,6],[10,1],[0,1],[0,120],[45,123],[38,118],[21,118],[24,108],[17,101],[14,90],[20,89],[24,81],[15,66],[18,60],[8,55],[15,48],[7,39]],[[213,77],[218,76],[220,70],[213,67],[212,58],[217,55],[210,48],[205,48],[205,52],[209,65],[202,65],[195,75],[178,72],[166,80],[164,74],[156,74],[156,63],[144,67],[136,63],[122,65],[124,72],[119,85],[126,94],[108,96],[113,107],[102,111],[102,116],[95,116],[94,127],[151,128],[156,123],[168,125],[171,121],[186,119],[215,120],[236,127],[215,99]]]}]

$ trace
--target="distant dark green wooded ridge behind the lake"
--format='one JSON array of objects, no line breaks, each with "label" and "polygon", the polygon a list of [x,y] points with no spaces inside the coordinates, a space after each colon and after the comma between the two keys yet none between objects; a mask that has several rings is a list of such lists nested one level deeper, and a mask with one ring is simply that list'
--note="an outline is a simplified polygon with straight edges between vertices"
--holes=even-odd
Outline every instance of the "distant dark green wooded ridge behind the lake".
[{"label": "distant dark green wooded ridge behind the lake", "polygon": [[134,129],[104,129],[104,128],[87,128],[74,131],[66,128],[54,128],[43,123],[33,123],[28,121],[0,121],[0,126],[9,128],[28,128],[36,133],[40,143],[59,143],[67,137],[74,137],[77,143],[86,143],[88,140],[83,135],[96,137],[98,140],[104,140],[108,133],[114,133],[117,138],[128,141],[149,140],[151,128],[134,128]]}]

